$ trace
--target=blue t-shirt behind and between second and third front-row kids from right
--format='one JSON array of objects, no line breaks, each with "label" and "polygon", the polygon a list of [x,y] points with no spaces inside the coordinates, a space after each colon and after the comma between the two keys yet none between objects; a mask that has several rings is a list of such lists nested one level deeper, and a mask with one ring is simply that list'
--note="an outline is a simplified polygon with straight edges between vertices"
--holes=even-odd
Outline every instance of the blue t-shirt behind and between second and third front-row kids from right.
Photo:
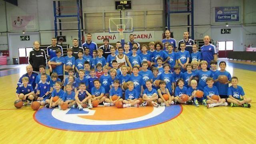
[{"label": "blue t-shirt behind and between second and third front-row kids from right", "polygon": [[199,78],[198,89],[203,91],[204,87],[207,86],[206,78],[212,77],[212,72],[210,72],[209,70],[207,70],[206,72],[204,72],[203,70],[199,70],[198,72],[193,74],[193,76],[197,76]]}]

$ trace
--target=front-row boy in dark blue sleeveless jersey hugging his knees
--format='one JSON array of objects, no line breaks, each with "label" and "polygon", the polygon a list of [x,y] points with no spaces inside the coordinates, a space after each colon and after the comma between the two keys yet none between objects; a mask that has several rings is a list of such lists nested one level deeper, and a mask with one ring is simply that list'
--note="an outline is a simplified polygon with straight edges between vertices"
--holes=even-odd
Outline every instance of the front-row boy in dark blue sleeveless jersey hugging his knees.
[{"label": "front-row boy in dark blue sleeveless jersey hugging his knees", "polygon": [[76,92],[76,95],[75,95],[77,108],[79,110],[82,110],[83,109],[82,104],[86,104],[86,103],[89,104],[88,108],[90,109],[92,108],[92,103],[91,103],[92,95],[87,90],[85,90],[85,88],[86,88],[85,83],[81,82],[79,84],[79,90]]}]

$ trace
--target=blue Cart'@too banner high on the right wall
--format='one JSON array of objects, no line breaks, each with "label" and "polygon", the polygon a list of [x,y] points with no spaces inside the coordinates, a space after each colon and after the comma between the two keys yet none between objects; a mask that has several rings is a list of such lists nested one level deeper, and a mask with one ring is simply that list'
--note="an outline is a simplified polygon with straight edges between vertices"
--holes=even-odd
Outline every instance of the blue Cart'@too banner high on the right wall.
[{"label": "blue Cart'@too banner high on the right wall", "polygon": [[215,22],[238,22],[239,6],[215,7]]}]

